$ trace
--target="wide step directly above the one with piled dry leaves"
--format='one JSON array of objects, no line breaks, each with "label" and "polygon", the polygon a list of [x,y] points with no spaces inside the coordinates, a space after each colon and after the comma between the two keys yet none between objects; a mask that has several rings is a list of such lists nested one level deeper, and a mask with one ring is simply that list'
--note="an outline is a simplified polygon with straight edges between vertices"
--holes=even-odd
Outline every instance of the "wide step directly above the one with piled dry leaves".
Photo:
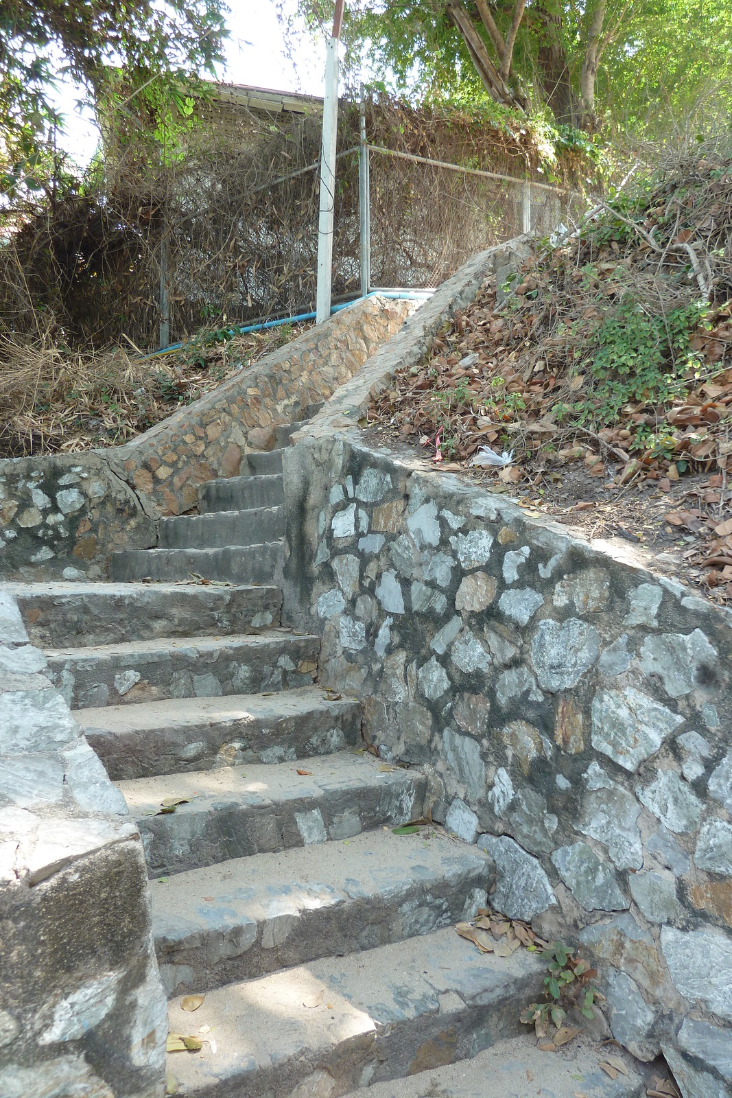
[{"label": "wide step directly above the one with piled dry leaves", "polygon": [[427,934],[486,903],[493,862],[432,828],[235,859],[153,884],[169,995]]}]

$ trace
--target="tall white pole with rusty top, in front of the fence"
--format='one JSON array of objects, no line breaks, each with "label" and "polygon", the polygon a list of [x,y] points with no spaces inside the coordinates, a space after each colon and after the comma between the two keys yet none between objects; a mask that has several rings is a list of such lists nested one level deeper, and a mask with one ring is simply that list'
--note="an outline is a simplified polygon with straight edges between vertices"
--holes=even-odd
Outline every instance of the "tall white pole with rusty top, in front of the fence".
[{"label": "tall white pole with rusty top, in front of the fence", "polygon": [[336,204],[336,137],[338,135],[338,41],[344,0],[336,0],[333,35],[326,47],[323,142],[320,146],[320,197],[318,214],[316,324],[330,316],[333,279],[333,213]]}]

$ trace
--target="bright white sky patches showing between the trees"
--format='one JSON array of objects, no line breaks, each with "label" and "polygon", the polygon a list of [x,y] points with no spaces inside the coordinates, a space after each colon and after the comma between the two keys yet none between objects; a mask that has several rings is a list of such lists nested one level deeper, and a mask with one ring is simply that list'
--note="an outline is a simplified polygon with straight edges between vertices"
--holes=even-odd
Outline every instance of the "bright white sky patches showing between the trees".
[{"label": "bright white sky patches showing between the trees", "polygon": [[[293,59],[289,59],[274,0],[228,0],[228,4],[229,37],[225,43],[225,61],[218,70],[219,79],[278,91],[323,94],[325,43],[314,42],[303,30]],[[285,13],[293,13],[295,2],[285,0],[283,7]],[[55,103],[66,123],[64,132],[57,135],[57,145],[79,167],[89,164],[100,141],[93,111],[79,105],[82,98],[83,90],[70,80],[58,81]]]}]

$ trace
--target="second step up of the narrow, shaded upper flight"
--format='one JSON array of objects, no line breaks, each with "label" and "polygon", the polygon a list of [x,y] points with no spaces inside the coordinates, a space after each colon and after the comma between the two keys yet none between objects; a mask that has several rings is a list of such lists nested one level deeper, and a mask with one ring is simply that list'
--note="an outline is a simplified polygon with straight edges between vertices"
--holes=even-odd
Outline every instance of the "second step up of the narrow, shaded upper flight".
[{"label": "second step up of the narrow, shaded upper flight", "polygon": [[160,549],[216,549],[261,545],[284,536],[284,507],[217,511],[206,515],[161,518]]}]

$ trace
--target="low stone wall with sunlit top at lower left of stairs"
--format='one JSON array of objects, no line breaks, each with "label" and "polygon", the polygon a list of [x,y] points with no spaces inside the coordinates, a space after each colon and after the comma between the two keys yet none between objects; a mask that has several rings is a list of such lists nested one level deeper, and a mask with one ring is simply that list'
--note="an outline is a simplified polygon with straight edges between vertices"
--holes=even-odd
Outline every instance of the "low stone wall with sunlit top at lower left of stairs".
[{"label": "low stone wall with sunlit top at lower left of stairs", "polygon": [[0,638],[0,1095],[161,1098],[139,833],[7,592]]}]

